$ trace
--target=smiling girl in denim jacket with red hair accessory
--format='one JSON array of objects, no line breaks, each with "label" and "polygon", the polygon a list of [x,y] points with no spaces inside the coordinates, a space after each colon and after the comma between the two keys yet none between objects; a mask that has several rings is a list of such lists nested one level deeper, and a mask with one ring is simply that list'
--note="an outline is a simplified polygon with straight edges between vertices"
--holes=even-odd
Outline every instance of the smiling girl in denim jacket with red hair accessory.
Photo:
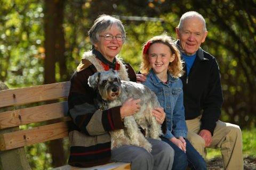
[{"label": "smiling girl in denim jacket with red hair accessory", "polygon": [[206,169],[205,160],[186,140],[182,82],[179,79],[183,73],[182,62],[171,37],[155,36],[145,43],[140,72],[147,74],[142,83],[155,92],[166,113],[167,132],[162,140],[174,149],[172,169],[186,169],[188,165],[192,169]]}]

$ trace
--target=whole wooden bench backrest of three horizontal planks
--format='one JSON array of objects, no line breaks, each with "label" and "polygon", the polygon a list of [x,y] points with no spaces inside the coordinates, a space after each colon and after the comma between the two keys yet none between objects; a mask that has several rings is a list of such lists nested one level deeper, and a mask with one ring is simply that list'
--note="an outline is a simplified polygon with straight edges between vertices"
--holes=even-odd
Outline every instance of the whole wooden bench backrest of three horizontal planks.
[{"label": "whole wooden bench backrest of three horizontal planks", "polygon": [[[67,98],[70,82],[45,84],[41,86],[0,91],[0,110],[2,107],[19,106],[42,101]],[[0,135],[0,150],[9,150],[33,145],[53,139],[67,137],[67,101],[42,104],[35,107],[13,109],[0,113],[0,130],[30,123],[56,120],[57,123],[38,126],[28,130],[8,132]]]}]

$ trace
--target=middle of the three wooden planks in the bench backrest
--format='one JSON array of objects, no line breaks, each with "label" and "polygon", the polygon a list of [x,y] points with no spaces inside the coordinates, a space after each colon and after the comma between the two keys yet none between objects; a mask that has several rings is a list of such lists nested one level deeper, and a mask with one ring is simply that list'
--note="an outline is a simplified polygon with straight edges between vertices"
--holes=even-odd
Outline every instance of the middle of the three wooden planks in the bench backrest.
[{"label": "middle of the three wooden planks in the bench backrest", "polygon": [[42,122],[67,115],[67,101],[0,113],[0,129]]}]

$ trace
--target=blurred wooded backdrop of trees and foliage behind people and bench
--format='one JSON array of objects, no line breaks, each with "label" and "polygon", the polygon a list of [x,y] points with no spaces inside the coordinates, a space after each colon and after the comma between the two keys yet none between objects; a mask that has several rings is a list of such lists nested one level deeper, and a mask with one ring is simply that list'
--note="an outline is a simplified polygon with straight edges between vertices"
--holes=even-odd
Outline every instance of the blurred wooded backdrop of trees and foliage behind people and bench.
[{"label": "blurred wooded backdrop of trees and foliage behind people and bench", "polygon": [[[0,81],[10,88],[68,81],[91,48],[87,31],[100,14],[116,15],[126,25],[121,56],[139,71],[143,43],[163,32],[175,39],[175,27],[187,11],[197,11],[206,20],[209,34],[202,47],[220,66],[225,99],[221,119],[242,129],[255,127],[255,0],[2,0]],[[56,146],[27,148],[41,160],[37,169],[63,164],[58,156],[67,153]]]}]

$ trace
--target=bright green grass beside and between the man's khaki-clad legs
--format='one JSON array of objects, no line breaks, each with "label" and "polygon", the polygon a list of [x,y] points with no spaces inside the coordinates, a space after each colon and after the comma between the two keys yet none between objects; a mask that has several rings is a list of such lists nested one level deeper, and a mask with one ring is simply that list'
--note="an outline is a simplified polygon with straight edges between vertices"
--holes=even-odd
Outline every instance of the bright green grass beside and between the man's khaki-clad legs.
[{"label": "bright green grass beside and between the man's khaki-clad legs", "polygon": [[[250,130],[242,130],[243,135],[243,155],[256,158],[256,128]],[[207,148],[206,159],[221,157],[219,149]]]}]

